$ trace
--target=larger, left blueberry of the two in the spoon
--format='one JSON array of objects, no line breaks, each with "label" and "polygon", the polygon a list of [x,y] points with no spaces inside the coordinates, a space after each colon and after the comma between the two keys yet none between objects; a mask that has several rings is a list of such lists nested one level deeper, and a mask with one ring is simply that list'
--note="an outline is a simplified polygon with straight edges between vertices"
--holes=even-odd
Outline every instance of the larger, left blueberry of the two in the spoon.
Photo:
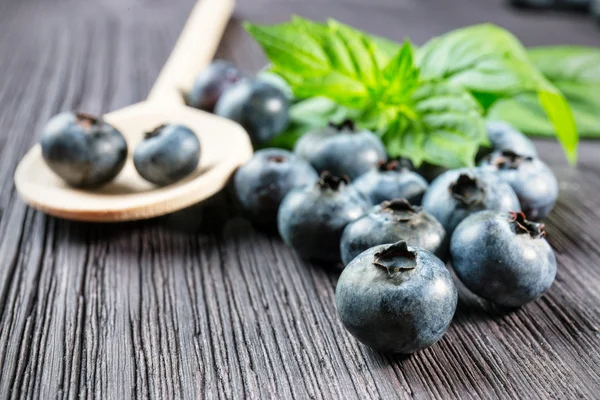
[{"label": "larger, left blueberry of the two in the spoon", "polygon": [[93,188],[113,180],[127,160],[123,135],[102,119],[64,112],[42,132],[42,156],[69,185]]}]

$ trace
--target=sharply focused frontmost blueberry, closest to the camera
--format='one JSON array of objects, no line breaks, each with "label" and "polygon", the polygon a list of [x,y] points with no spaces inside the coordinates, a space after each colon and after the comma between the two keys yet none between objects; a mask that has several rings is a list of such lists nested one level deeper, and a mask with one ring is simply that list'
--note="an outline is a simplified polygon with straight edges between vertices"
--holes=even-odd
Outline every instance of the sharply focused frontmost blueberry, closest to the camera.
[{"label": "sharply focused frontmost blueberry, closest to the camera", "polygon": [[406,242],[361,253],[342,272],[335,297],[346,329],[389,353],[412,353],[437,342],[458,300],[444,263]]}]

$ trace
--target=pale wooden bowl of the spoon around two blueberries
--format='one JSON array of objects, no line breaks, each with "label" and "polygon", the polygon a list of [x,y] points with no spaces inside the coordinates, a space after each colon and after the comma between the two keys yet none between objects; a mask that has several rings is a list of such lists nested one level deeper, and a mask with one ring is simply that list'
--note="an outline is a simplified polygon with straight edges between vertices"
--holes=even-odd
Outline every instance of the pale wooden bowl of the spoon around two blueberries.
[{"label": "pale wooden bowl of the spoon around two blueberries", "polygon": [[119,175],[98,189],[82,190],[65,183],[44,162],[40,145],[19,164],[15,184],[23,200],[47,214],[79,221],[128,221],[164,215],[198,203],[221,190],[237,167],[252,157],[248,134],[234,122],[183,106],[141,102],[106,114],[123,133],[129,149],[144,133],[163,123],[179,123],[200,140],[200,163],[181,181],[156,187],[135,170],[132,152]]}]

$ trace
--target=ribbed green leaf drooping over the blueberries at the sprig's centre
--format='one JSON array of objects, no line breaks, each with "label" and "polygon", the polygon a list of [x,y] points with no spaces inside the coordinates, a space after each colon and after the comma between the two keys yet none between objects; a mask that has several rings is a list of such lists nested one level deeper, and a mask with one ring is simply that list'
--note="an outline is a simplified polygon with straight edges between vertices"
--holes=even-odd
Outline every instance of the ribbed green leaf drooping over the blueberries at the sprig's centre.
[{"label": "ribbed green leaf drooping over the blueberries at the sprig's centre", "polygon": [[412,100],[418,119],[401,116],[382,137],[390,155],[409,158],[416,166],[423,161],[448,168],[473,166],[486,138],[482,109],[473,96],[457,85],[429,82]]}]

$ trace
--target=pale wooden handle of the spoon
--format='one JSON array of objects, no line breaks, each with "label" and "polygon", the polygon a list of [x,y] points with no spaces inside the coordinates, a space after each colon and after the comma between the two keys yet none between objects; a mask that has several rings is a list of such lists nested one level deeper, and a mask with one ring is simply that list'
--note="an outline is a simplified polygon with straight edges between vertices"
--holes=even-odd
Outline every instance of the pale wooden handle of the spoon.
[{"label": "pale wooden handle of the spoon", "polygon": [[199,0],[175,48],[154,83],[148,100],[166,105],[184,104],[182,92],[191,89],[196,75],[212,60],[235,0]]}]

